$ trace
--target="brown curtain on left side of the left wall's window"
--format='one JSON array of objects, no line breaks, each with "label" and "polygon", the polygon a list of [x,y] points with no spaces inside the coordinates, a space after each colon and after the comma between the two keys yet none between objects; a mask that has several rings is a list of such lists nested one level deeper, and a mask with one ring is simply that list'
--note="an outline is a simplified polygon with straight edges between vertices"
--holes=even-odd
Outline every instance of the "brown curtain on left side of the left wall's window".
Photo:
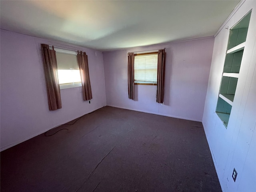
[{"label": "brown curtain on left side of the left wall's window", "polygon": [[49,110],[57,110],[62,108],[60,99],[60,86],[57,77],[57,60],[56,52],[52,46],[42,44],[43,60],[44,60],[44,75],[46,80],[46,89],[48,95]]}]

